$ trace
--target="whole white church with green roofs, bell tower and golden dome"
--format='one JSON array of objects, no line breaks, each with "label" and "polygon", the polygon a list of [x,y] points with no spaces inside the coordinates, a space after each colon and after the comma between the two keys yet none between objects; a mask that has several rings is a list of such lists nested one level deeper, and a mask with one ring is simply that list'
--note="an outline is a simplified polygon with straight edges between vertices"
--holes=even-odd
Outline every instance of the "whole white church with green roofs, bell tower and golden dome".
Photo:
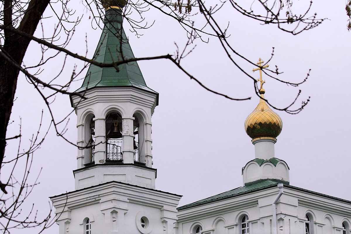
[{"label": "whole white church with green roofs, bell tower and golden dome", "polygon": [[105,6],[94,54],[114,67],[88,68],[71,96],[77,114],[75,190],[52,196],[59,234],[351,234],[351,201],[290,185],[289,166],[274,155],[282,120],[264,99],[245,120],[255,149],[243,186],[178,207],[181,195],[155,189],[151,116],[158,93],[133,61],[122,28],[124,1]]}]

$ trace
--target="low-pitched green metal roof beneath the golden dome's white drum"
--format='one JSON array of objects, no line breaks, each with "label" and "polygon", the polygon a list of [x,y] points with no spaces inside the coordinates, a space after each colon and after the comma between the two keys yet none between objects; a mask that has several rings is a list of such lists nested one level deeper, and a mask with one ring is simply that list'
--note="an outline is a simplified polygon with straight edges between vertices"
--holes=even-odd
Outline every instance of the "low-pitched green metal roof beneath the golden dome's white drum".
[{"label": "low-pitched green metal roof beneath the golden dome's white drum", "polygon": [[202,200],[190,203],[188,205],[178,207],[177,210],[187,209],[187,208],[194,207],[194,206],[204,205],[206,203],[216,202],[216,201],[219,201],[219,200],[233,198],[235,196],[239,196],[239,195],[243,195],[243,194],[247,194],[247,193],[252,193],[252,192],[256,192],[256,191],[267,189],[267,188],[276,187],[278,185],[278,183],[284,183],[284,187],[285,188],[292,188],[292,189],[296,189],[296,190],[299,190],[299,191],[302,191],[302,192],[311,193],[311,194],[314,194],[314,195],[323,196],[325,198],[330,198],[330,199],[334,199],[334,200],[337,200],[337,201],[342,201],[342,202],[346,202],[346,203],[350,203],[351,204],[351,201],[349,201],[349,200],[336,198],[334,196],[329,196],[329,195],[326,195],[326,194],[323,194],[323,193],[317,193],[317,192],[313,192],[313,191],[308,190],[308,189],[291,186],[291,185],[286,184],[285,181],[279,181],[279,180],[258,180],[255,183],[252,183],[250,185],[246,185],[246,186],[239,187],[239,188],[234,188],[234,189],[229,190],[227,192],[220,193],[220,194],[211,196],[209,198],[205,198],[205,199],[202,199]]}]

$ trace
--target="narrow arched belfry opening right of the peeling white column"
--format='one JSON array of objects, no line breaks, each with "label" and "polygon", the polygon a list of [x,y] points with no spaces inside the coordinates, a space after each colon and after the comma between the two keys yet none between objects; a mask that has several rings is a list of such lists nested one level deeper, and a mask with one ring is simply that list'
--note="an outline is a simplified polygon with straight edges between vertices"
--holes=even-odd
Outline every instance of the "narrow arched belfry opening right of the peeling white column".
[{"label": "narrow arched belfry opening right of the peeling white column", "polygon": [[144,121],[139,113],[133,115],[133,149],[134,162],[145,163],[144,149]]}]

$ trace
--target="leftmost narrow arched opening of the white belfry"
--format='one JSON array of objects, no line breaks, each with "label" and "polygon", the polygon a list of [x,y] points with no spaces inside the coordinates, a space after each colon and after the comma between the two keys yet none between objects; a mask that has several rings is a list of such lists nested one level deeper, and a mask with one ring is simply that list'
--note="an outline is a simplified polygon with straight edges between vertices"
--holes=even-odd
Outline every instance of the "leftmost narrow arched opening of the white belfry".
[{"label": "leftmost narrow arched opening of the white belfry", "polygon": [[95,161],[95,115],[87,116],[84,123],[84,164]]}]

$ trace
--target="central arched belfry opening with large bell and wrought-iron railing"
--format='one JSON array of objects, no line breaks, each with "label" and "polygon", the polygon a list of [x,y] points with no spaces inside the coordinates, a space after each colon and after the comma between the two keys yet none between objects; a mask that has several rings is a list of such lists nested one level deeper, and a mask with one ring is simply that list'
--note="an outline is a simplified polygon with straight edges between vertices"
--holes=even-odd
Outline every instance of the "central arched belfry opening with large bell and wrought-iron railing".
[{"label": "central arched belfry opening with large bell and wrought-iron railing", "polygon": [[122,161],[122,117],[111,112],[106,116],[106,161]]}]

